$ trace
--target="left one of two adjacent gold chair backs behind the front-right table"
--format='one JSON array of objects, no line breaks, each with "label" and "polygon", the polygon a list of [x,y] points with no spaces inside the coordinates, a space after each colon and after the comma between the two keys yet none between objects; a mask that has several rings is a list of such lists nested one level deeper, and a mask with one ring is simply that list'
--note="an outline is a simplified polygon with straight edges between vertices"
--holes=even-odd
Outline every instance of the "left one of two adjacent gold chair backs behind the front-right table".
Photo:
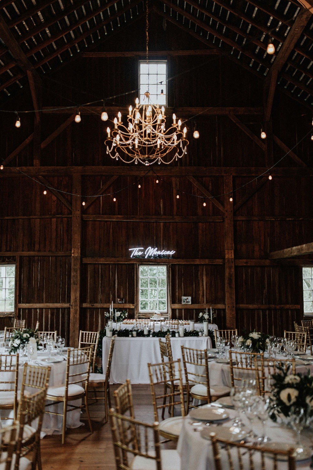
[{"label": "left one of two adjacent gold chair backs behind the front-right table", "polygon": [[[258,353],[260,359],[263,352]],[[243,379],[256,380],[254,358],[256,352],[234,351],[229,349],[230,383],[232,387],[240,387]]]}]

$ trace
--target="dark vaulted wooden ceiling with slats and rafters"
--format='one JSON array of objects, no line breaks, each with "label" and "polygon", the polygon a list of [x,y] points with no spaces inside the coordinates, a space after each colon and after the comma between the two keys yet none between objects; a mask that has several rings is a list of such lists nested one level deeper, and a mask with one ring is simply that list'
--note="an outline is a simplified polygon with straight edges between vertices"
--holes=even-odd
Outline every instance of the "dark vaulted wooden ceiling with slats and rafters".
[{"label": "dark vaulted wooden ceiling with slats and rafters", "polygon": [[[301,2],[149,0],[149,21],[158,14],[201,41],[202,49],[229,55],[263,78],[268,120],[276,86],[313,108],[313,8],[311,0]],[[91,53],[145,8],[143,0],[0,1],[0,102]],[[266,52],[269,42],[274,55]]]}]

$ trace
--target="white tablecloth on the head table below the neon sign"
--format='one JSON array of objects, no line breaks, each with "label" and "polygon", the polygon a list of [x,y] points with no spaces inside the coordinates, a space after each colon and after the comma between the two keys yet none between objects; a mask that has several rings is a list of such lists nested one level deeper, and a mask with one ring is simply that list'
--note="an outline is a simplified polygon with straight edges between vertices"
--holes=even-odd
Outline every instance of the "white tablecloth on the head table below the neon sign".
[{"label": "white tablecloth on the head table below the neon sign", "polygon": [[[102,364],[105,370],[111,338],[104,337],[102,342]],[[178,337],[171,338],[173,360],[183,359],[181,345],[196,349],[211,348],[211,338]],[[150,384],[147,364],[161,361],[159,338],[116,337],[111,365],[110,384],[123,384],[130,379],[132,384]]]}]

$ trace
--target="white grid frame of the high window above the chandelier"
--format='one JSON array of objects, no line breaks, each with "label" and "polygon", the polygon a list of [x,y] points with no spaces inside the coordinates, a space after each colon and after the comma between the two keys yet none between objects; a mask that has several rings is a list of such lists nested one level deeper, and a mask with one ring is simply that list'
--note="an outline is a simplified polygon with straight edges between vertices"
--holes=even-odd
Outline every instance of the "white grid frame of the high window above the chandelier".
[{"label": "white grid frame of the high window above the chandelier", "polygon": [[[159,73],[157,68],[156,74],[151,74],[149,71],[151,70],[151,66],[153,65],[165,65],[166,71],[165,74]],[[142,67],[143,66],[143,67]],[[148,73],[142,73],[142,69],[148,66]],[[149,79],[144,80],[145,83],[142,83],[142,77],[146,77],[148,75]],[[154,79],[155,75],[155,79]],[[147,104],[147,100],[145,99],[144,93],[148,91],[150,93],[150,102],[152,104],[159,104],[160,106],[166,107],[168,105],[168,63],[166,60],[160,61],[147,61],[141,60],[138,62],[138,80],[139,80],[139,103],[140,104]],[[146,83],[146,82],[149,83]],[[162,83],[160,83],[162,81]],[[163,94],[161,94],[161,90],[163,90]],[[154,93],[156,91],[156,93]]]}]

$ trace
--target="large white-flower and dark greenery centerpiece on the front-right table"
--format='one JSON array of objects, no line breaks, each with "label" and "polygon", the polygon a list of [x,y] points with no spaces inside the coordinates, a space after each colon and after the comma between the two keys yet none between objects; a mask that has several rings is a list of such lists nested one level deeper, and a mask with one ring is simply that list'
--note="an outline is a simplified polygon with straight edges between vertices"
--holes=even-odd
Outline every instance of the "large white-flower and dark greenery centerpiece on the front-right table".
[{"label": "large white-flower and dark greenery centerpiece on the front-right table", "polygon": [[273,384],[270,396],[269,416],[290,417],[295,407],[303,408],[306,417],[313,416],[313,376],[307,374],[288,374],[288,370],[272,375]]}]

